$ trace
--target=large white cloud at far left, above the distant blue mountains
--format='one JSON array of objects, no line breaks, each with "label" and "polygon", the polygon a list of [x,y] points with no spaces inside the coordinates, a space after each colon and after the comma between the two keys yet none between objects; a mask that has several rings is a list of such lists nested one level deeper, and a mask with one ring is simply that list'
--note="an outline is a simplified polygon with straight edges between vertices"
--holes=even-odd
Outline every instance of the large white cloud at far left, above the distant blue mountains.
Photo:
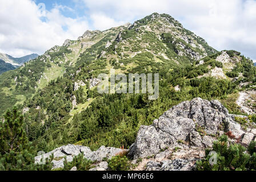
[{"label": "large white cloud at far left, above the distant blue mountains", "polygon": [[11,56],[43,53],[65,39],[77,39],[87,30],[87,21],[63,16],[59,10],[66,8],[56,5],[46,11],[46,21],[42,21],[33,1],[1,1],[0,52]]}]

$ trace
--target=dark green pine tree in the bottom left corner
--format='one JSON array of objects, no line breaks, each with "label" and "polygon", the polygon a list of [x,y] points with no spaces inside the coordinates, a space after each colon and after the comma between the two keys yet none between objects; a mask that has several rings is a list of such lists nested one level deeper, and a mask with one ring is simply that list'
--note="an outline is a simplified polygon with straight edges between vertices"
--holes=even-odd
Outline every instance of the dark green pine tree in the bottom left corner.
[{"label": "dark green pine tree in the bottom left corner", "polygon": [[38,170],[51,169],[46,165],[34,163],[35,151],[23,130],[23,115],[17,107],[7,110],[5,120],[0,122],[0,170]]}]

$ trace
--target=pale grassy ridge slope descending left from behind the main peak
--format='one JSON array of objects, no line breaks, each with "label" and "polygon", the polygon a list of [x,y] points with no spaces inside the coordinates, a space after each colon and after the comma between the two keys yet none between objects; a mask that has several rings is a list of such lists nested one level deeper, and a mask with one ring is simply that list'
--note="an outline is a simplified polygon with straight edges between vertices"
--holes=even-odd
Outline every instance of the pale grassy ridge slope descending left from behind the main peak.
[{"label": "pale grassy ridge slope descending left from behind the main peak", "polygon": [[[25,63],[22,67],[0,76],[0,114],[7,108],[22,104],[33,97],[38,89],[44,88],[50,81],[77,71],[78,66],[85,60],[79,56],[85,50],[86,61],[97,59],[107,40],[114,39],[124,27],[112,28],[109,31],[92,31],[77,41],[68,41],[65,46],[55,46],[36,59]],[[93,50],[93,51],[92,51]]]}]

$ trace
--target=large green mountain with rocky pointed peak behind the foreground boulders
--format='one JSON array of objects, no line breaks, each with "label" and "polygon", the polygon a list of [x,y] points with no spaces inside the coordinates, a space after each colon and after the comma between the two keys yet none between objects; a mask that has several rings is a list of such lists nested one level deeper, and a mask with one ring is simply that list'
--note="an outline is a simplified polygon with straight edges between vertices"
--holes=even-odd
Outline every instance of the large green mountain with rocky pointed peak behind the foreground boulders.
[{"label": "large green mountain with rocky pointed peak behind the foreground boulders", "polygon": [[[21,104],[27,135],[38,151],[67,143],[127,148],[141,125],[171,106],[194,97],[224,101],[241,82],[256,82],[251,60],[223,52],[171,16],[154,13],[134,24],[86,31],[3,73],[0,111]],[[158,100],[148,100],[147,94],[99,94],[91,80],[109,74],[110,68],[125,74],[159,73]],[[227,107],[233,111],[231,104]]]}]

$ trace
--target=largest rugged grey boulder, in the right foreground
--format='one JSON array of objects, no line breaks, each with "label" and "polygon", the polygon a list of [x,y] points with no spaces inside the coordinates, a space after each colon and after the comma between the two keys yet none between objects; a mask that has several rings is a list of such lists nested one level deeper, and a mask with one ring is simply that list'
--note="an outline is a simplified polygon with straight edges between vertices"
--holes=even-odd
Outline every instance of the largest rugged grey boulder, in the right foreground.
[{"label": "largest rugged grey boulder, in the right foreground", "polygon": [[211,147],[215,140],[212,136],[223,127],[237,138],[245,134],[219,101],[194,98],[172,107],[153,125],[141,126],[128,155],[133,159],[146,158],[158,154],[161,146],[177,147],[179,141],[185,141],[187,146]]}]

